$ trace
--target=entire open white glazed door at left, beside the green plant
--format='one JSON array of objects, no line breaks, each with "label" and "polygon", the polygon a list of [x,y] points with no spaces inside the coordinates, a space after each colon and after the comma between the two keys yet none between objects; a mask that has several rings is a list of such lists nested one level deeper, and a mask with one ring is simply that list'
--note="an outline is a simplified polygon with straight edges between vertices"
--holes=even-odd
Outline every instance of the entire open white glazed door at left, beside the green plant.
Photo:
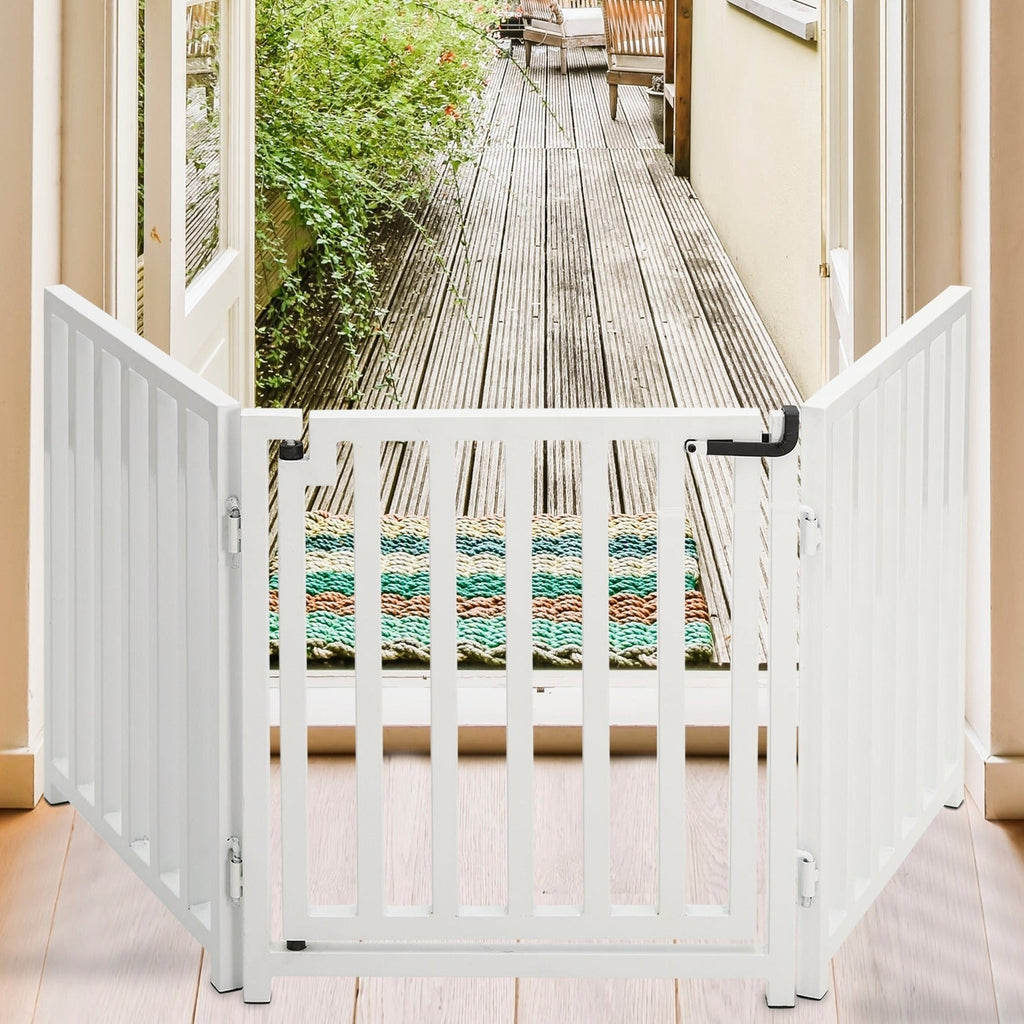
[{"label": "entire open white glazed door at left, beside the green plant", "polygon": [[251,404],[252,0],[145,0],[142,333]]}]

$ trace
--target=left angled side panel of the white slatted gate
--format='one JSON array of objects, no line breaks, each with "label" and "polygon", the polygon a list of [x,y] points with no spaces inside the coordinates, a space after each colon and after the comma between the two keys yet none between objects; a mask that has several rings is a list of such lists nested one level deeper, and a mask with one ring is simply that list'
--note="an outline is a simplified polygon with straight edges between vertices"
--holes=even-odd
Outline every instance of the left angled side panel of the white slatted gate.
[{"label": "left angled side panel of the white slatted gate", "polygon": [[238,987],[239,406],[69,289],[45,302],[46,794],[209,950],[216,987]]}]

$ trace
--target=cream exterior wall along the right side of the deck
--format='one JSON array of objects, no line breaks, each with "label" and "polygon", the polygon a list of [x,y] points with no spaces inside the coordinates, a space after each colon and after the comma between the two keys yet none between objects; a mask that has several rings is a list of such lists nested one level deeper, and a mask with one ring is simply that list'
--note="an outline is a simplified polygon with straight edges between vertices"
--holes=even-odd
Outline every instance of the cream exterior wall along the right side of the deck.
[{"label": "cream exterior wall along the right side of the deck", "polygon": [[690,179],[805,396],[822,381],[820,89],[816,43],[695,0]]}]

